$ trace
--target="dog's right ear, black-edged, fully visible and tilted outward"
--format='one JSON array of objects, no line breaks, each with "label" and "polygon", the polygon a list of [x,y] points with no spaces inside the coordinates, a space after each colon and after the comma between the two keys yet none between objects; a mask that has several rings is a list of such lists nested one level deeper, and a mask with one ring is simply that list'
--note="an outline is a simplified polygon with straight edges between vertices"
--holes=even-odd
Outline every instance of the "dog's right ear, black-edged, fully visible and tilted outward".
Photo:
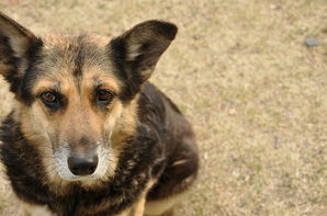
[{"label": "dog's right ear, black-edged, fully visible and tilted outward", "polygon": [[143,22],[111,41],[114,60],[124,67],[128,80],[145,82],[176,34],[177,26],[172,23]]}]

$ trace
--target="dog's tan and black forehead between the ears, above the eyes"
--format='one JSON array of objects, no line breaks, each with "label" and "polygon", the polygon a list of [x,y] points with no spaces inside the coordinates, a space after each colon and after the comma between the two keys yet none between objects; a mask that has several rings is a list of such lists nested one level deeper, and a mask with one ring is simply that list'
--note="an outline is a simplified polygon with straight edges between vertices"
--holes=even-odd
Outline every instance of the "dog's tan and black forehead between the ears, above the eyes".
[{"label": "dog's tan and black forehead between the ears, above the eyes", "polygon": [[[115,87],[116,79],[110,58],[110,39],[97,35],[50,35],[43,39],[41,60],[33,73],[38,73],[33,83],[33,92],[43,86],[64,86],[65,83],[94,83],[100,80],[103,84]],[[59,83],[59,84],[55,84]]]}]

